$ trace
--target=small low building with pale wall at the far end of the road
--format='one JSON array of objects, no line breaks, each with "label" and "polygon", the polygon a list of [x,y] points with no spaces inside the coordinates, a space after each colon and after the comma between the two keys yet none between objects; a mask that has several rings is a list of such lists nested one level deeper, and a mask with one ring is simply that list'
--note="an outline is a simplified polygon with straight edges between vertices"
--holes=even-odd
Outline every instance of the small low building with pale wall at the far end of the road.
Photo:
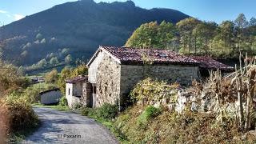
[{"label": "small low building with pale wall at the far end of the road", "polygon": [[59,99],[62,98],[62,93],[59,89],[46,90],[39,93],[39,95],[40,102],[43,105],[56,104],[59,102]]}]

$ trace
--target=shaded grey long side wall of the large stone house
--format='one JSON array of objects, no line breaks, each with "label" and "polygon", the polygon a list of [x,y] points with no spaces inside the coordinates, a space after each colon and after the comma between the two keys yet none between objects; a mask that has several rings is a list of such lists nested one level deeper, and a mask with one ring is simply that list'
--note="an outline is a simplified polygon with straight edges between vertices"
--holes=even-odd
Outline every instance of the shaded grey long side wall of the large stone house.
[{"label": "shaded grey long side wall of the large stone house", "polygon": [[146,77],[160,81],[179,82],[190,85],[192,80],[198,79],[198,66],[121,66],[121,103],[124,103],[130,90]]}]

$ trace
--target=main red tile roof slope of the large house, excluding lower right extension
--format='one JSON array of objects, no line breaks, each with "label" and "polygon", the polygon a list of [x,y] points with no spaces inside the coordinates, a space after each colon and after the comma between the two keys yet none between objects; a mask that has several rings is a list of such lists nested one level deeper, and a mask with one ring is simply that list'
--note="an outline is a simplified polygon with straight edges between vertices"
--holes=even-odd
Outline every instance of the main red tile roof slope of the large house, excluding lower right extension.
[{"label": "main red tile roof slope of the large house, excluding lower right extension", "polygon": [[153,64],[198,65],[196,60],[171,50],[118,48],[113,46],[101,46],[100,49],[106,50],[114,58],[117,58],[121,64],[143,64],[143,54],[145,54]]}]

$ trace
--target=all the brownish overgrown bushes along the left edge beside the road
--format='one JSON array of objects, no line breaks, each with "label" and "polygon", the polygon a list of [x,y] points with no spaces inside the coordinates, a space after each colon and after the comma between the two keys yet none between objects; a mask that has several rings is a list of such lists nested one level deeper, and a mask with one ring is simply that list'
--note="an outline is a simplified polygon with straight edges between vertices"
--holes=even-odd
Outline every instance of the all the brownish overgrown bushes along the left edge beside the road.
[{"label": "all the brownish overgrown bushes along the left edge beside the road", "polygon": [[30,81],[21,77],[16,67],[0,63],[0,142],[16,142],[38,126],[38,117],[28,97],[23,95]]}]

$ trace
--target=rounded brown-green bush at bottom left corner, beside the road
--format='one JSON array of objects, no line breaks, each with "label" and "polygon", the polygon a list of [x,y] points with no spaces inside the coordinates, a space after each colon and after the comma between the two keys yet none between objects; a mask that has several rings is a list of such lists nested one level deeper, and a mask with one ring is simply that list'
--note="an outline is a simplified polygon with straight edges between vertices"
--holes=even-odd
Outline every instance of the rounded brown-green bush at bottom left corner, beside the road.
[{"label": "rounded brown-green bush at bottom left corner, beside the road", "polygon": [[[0,115],[0,143],[1,140],[9,139],[8,136],[12,134],[27,134],[39,124],[30,103],[16,94],[0,99]],[[10,141],[15,139],[10,138]]]}]

